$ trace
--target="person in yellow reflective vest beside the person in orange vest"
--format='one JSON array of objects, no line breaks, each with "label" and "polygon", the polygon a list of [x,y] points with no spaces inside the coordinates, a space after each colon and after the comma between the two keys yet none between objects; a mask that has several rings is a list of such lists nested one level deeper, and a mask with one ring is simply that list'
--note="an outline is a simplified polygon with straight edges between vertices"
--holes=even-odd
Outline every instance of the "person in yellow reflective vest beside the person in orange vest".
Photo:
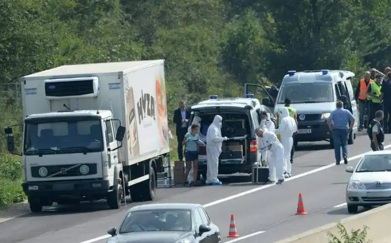
[{"label": "person in yellow reflective vest beside the person in orange vest", "polygon": [[380,92],[380,83],[383,79],[381,74],[376,74],[376,82],[370,83],[368,86],[368,101],[369,101],[369,117],[368,123],[371,123],[375,119],[376,111],[382,110],[381,104],[381,92]]}]

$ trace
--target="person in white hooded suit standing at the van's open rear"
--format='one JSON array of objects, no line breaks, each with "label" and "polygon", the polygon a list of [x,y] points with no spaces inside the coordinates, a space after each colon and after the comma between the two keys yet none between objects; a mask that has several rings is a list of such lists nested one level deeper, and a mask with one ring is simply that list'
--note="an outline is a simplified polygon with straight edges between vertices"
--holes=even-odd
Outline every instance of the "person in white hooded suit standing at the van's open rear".
[{"label": "person in white hooded suit standing at the van's open rear", "polygon": [[221,154],[222,142],[227,140],[227,137],[221,136],[221,126],[223,118],[216,115],[213,123],[209,126],[206,133],[206,157],[207,157],[207,171],[206,184],[207,185],[221,185],[218,180],[218,157]]}]

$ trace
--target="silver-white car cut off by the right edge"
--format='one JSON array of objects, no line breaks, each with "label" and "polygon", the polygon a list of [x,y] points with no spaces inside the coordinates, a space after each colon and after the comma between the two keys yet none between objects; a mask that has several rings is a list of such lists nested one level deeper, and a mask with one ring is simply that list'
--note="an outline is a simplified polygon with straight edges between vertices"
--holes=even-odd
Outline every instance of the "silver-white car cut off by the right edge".
[{"label": "silver-white car cut off by the right edge", "polygon": [[345,171],[352,173],[346,188],[349,213],[391,202],[391,150],[369,152]]}]

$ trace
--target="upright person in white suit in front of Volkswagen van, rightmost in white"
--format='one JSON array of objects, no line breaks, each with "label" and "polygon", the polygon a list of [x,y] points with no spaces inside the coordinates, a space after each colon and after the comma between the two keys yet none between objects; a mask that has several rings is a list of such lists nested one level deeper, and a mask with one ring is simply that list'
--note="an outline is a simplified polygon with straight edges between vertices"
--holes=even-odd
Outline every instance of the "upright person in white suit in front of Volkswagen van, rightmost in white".
[{"label": "upright person in white suit in front of Volkswagen van, rightmost in white", "polygon": [[293,147],[293,133],[297,132],[297,125],[295,119],[289,116],[289,110],[286,107],[282,107],[279,112],[279,119],[281,119],[281,123],[279,128],[275,131],[276,133],[281,134],[281,143],[284,147],[284,177],[289,178],[292,176],[290,152]]}]

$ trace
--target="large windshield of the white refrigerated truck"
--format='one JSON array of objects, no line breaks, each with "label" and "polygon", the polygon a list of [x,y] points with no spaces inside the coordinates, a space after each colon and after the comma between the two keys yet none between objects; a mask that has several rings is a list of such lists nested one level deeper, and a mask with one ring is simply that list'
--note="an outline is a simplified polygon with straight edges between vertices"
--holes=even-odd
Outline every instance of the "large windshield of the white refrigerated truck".
[{"label": "large windshield of the white refrigerated truck", "polygon": [[103,151],[100,120],[26,120],[24,154],[70,154]]}]

